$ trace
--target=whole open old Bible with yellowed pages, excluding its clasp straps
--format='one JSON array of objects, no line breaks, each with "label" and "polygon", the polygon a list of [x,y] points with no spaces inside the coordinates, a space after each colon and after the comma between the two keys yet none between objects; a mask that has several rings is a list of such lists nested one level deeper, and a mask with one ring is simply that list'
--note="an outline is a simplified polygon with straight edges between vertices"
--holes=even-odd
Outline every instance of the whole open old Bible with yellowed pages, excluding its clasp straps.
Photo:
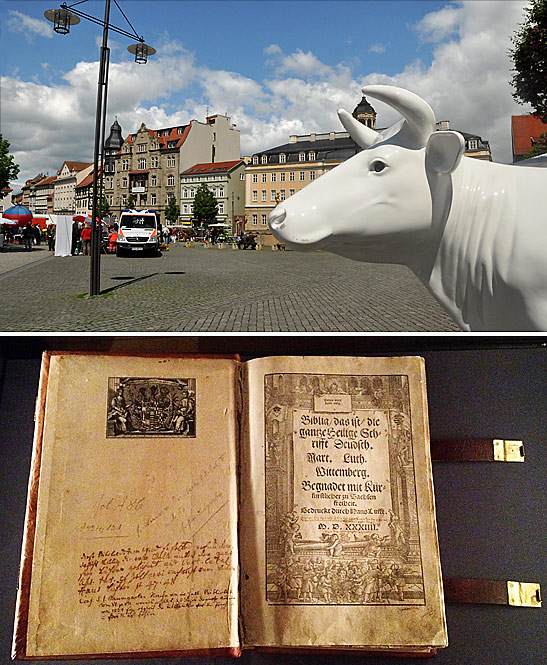
[{"label": "whole open old Bible with yellowed pages, excluding its clasp straps", "polygon": [[44,356],[14,657],[446,643],[420,358]]}]

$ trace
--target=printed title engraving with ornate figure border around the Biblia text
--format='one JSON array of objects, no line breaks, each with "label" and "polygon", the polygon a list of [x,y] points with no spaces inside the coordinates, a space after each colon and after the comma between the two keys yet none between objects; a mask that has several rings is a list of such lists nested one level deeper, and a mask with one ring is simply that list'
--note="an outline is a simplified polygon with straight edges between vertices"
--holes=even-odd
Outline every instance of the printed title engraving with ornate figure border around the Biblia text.
[{"label": "printed title engraving with ornate figure border around the Biblia text", "polygon": [[266,600],[424,605],[408,377],[264,389]]}]

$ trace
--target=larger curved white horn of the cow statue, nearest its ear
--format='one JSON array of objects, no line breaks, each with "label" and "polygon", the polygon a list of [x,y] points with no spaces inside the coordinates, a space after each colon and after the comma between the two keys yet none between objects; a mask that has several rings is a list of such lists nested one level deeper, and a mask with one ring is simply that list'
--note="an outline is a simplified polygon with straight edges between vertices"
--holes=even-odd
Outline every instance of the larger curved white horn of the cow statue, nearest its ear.
[{"label": "larger curved white horn of the cow statue, nearest its ear", "polygon": [[367,85],[363,88],[363,94],[385,102],[404,116],[406,122],[398,132],[398,145],[415,149],[427,144],[435,131],[435,114],[421,97],[393,85]]}]

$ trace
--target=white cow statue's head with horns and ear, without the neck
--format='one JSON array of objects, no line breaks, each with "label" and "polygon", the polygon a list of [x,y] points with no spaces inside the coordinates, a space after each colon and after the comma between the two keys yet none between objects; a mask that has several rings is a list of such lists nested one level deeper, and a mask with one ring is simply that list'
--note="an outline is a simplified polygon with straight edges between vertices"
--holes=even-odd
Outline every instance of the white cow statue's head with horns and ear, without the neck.
[{"label": "white cow statue's head with horns and ear, without the neck", "polygon": [[457,132],[436,132],[431,107],[408,90],[373,85],[363,93],[403,118],[376,132],[340,110],[342,124],[364,150],[283,201],[268,221],[274,236],[293,249],[405,263],[431,234],[432,189],[436,178],[458,166],[464,141]]}]

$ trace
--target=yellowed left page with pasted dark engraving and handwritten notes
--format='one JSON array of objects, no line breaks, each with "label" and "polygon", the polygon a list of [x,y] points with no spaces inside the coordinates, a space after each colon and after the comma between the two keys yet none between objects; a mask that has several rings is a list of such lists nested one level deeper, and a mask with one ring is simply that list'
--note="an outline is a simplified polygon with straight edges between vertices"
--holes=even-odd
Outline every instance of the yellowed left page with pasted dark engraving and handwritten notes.
[{"label": "yellowed left page with pasted dark engraving and handwritten notes", "polygon": [[52,356],[27,656],[238,645],[237,365]]}]

